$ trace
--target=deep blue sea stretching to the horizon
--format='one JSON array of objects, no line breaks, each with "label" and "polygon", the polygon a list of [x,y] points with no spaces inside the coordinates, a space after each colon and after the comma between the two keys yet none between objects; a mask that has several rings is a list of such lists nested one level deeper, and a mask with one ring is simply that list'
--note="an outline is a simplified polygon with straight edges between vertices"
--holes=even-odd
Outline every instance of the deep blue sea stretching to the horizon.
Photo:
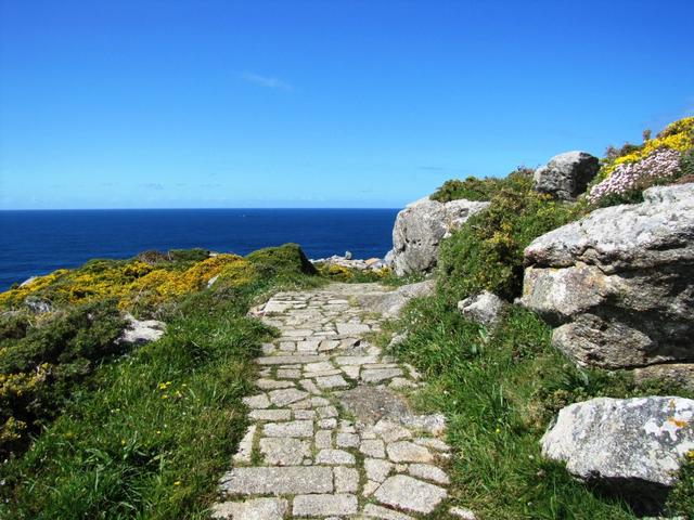
[{"label": "deep blue sea stretching to the horizon", "polygon": [[0,211],[0,290],[92,258],[202,247],[247,255],[287,242],[309,258],[382,258],[397,209],[124,209]]}]

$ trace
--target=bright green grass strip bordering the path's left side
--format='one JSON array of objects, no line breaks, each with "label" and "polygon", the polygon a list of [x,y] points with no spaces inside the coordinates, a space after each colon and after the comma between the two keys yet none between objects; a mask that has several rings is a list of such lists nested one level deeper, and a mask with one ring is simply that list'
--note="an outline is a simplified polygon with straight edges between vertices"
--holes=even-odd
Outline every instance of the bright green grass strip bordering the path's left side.
[{"label": "bright green grass strip bordering the path's left side", "polygon": [[159,341],[73,389],[63,413],[0,467],[0,518],[207,518],[246,426],[252,360],[273,333],[247,310],[273,291],[324,283],[274,273],[169,306]]}]

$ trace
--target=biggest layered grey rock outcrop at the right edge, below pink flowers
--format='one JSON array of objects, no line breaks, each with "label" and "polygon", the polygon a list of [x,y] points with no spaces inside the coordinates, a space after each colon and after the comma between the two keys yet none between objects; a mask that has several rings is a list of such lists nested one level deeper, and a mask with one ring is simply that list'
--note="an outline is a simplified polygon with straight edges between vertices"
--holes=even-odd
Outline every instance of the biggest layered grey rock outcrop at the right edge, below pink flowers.
[{"label": "biggest layered grey rock outcrop at the right edge, below pink flowers", "polygon": [[694,361],[694,184],[652,187],[525,250],[522,303],[581,365]]}]

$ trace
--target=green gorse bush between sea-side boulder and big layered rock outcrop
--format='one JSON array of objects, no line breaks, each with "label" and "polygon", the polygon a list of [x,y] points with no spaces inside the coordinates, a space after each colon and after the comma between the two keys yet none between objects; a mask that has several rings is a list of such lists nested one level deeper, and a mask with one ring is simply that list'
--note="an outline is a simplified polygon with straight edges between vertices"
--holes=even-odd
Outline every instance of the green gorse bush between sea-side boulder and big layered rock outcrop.
[{"label": "green gorse bush between sea-side boulder and big layered rock outcrop", "polygon": [[449,301],[481,290],[512,300],[523,286],[523,250],[538,236],[581,214],[580,205],[552,200],[516,171],[499,181],[485,211],[471,217],[441,244],[438,289]]}]

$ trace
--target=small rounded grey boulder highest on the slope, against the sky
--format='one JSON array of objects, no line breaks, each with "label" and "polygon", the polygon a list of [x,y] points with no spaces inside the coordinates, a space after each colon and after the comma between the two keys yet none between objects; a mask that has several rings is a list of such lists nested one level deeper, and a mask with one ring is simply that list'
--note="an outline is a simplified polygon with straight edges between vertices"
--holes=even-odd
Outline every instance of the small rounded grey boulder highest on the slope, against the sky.
[{"label": "small rounded grey boulder highest on the slope, against the sky", "polygon": [[587,152],[555,155],[535,171],[535,188],[561,200],[576,200],[600,170],[600,160]]}]

